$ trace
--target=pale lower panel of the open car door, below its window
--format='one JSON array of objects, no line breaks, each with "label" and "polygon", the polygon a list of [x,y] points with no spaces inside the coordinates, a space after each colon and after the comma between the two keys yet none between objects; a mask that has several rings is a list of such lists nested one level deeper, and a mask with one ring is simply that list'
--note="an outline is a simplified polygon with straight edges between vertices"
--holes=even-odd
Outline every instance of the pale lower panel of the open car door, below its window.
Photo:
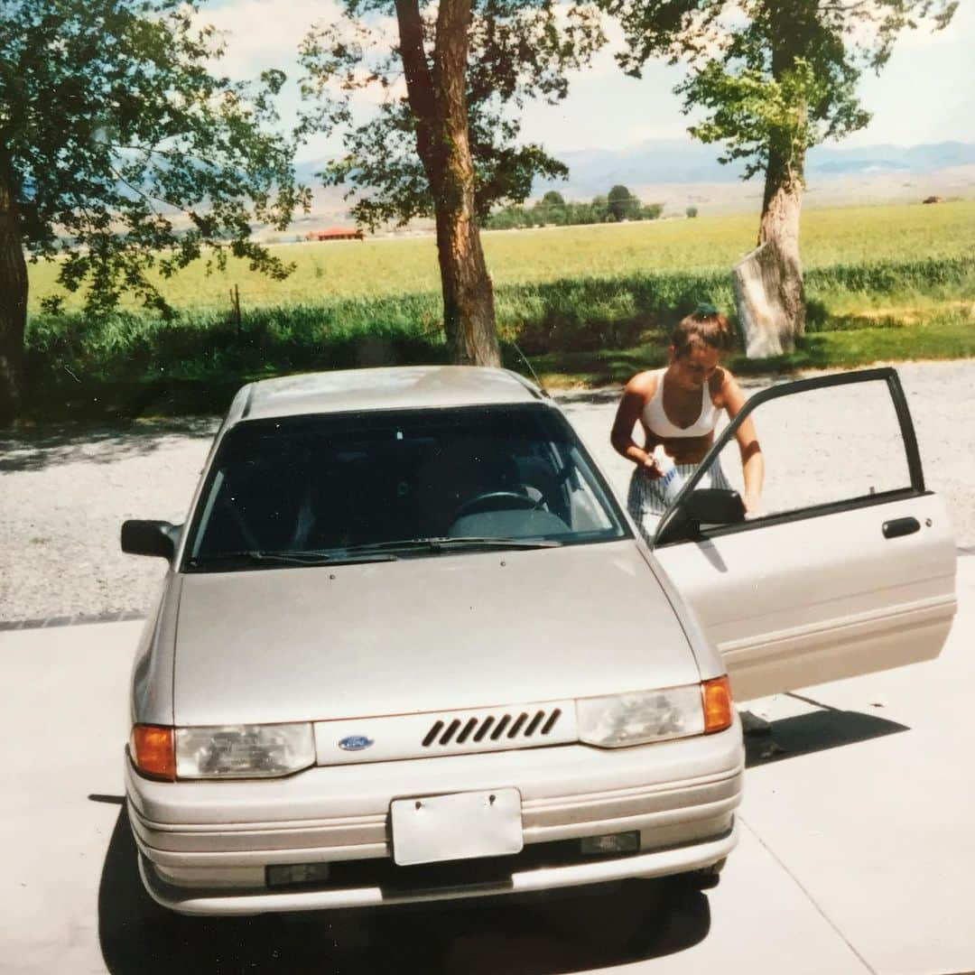
[{"label": "pale lower panel of the open car door, below its window", "polygon": [[[883,536],[884,522],[905,517],[920,530]],[[935,657],[956,610],[955,541],[933,494],[654,554],[739,700]]]}]

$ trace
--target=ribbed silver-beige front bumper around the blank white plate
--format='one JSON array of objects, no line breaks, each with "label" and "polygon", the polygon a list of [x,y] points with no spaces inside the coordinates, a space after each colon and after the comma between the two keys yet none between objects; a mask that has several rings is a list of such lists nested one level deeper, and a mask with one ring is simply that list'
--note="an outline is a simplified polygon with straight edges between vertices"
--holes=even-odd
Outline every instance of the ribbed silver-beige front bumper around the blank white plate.
[{"label": "ribbed silver-beige front bumper around the blank white plate", "polygon": [[[140,873],[160,904],[183,914],[366,907],[551,889],[605,880],[664,877],[727,855],[741,798],[741,730],[637,748],[584,745],[481,755],[316,767],[287,779],[152,782],[127,762],[129,815]],[[627,856],[521,857],[485,880],[464,863],[446,878],[375,882],[390,861],[389,806],[395,799],[502,787],[522,794],[526,852],[561,850],[583,837],[639,831]],[[536,846],[535,844],[547,844]],[[268,888],[265,868],[345,863],[315,887]],[[526,867],[526,861],[530,866]],[[393,872],[416,876],[413,868]]]}]

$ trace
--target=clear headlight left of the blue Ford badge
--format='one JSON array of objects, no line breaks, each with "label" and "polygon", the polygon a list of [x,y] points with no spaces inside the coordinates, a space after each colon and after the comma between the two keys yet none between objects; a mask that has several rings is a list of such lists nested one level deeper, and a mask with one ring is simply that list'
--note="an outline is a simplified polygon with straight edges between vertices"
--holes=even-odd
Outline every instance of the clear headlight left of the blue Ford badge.
[{"label": "clear headlight left of the blue Ford badge", "polygon": [[311,724],[176,728],[176,778],[271,778],[315,763]]}]

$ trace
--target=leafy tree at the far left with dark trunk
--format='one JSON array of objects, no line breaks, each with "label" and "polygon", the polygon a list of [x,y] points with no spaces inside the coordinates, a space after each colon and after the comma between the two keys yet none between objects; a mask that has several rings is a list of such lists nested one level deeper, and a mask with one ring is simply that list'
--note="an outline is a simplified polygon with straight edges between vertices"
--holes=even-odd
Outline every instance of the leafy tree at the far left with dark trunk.
[{"label": "leafy tree at the far left with dark trunk", "polygon": [[[90,314],[200,257],[289,268],[250,240],[305,201],[275,134],[284,75],[257,88],[211,73],[222,48],[184,0],[0,0],[0,421],[24,396],[29,260]],[[48,300],[56,308],[58,297]]]}]

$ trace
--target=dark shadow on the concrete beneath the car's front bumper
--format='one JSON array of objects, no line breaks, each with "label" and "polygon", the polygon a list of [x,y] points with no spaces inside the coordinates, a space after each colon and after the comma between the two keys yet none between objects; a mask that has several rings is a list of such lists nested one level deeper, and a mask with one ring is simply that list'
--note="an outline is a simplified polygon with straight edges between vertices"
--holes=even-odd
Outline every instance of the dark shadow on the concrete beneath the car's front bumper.
[{"label": "dark shadow on the concrete beneath the car's front bumper", "polygon": [[698,944],[710,926],[704,894],[661,881],[370,912],[180,917],[143,890],[124,807],[98,888],[101,954],[116,975],[394,967],[555,975],[671,955]]}]

